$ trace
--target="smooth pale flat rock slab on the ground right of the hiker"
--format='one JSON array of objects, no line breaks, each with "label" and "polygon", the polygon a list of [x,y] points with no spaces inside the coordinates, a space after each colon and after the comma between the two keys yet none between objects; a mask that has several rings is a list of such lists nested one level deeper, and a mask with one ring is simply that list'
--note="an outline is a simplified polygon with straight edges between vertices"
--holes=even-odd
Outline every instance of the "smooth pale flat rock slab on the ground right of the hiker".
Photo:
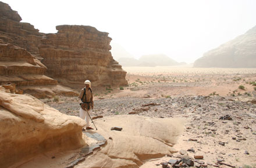
[{"label": "smooth pale flat rock slab on the ground right of the hiker", "polygon": [[[113,126],[123,129],[111,130]],[[172,145],[183,131],[180,119],[138,115],[109,116],[97,120],[97,127],[108,143],[76,167],[140,167],[148,159],[177,152]]]}]

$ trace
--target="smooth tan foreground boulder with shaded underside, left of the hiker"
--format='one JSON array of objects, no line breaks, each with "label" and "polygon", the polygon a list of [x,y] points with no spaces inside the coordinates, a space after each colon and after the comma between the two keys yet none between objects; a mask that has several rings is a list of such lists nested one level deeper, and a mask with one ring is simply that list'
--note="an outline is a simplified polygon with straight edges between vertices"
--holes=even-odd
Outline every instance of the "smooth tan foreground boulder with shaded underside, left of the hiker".
[{"label": "smooth tan foreground boulder with shaded underside, left of the hiker", "polygon": [[42,152],[85,144],[81,132],[83,119],[62,114],[33,96],[5,91],[0,86],[1,167],[26,161]]}]

